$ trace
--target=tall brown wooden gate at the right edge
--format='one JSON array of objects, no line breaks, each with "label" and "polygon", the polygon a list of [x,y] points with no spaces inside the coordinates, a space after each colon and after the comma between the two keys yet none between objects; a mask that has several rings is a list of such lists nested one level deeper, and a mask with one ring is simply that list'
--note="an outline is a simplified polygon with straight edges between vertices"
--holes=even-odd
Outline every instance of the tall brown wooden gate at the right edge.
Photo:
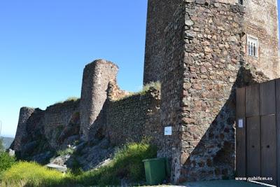
[{"label": "tall brown wooden gate at the right edge", "polygon": [[280,186],[280,79],[237,88],[237,176]]}]

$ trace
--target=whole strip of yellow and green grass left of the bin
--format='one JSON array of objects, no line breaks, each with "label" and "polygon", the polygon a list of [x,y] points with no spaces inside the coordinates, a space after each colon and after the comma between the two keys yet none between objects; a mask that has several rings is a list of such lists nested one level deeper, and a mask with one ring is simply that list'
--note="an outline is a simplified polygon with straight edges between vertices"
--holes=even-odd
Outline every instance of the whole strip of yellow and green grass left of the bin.
[{"label": "whole strip of yellow and green grass left of the bin", "polygon": [[142,160],[155,158],[155,146],[130,143],[120,148],[109,165],[78,174],[62,174],[34,162],[17,162],[0,177],[1,186],[120,186],[121,179],[144,181]]}]

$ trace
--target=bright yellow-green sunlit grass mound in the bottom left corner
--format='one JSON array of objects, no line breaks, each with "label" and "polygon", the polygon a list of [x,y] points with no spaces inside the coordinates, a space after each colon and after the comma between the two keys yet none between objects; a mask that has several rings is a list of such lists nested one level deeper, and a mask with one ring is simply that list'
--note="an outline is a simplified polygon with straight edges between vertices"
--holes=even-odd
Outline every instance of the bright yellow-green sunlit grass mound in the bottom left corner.
[{"label": "bright yellow-green sunlit grass mound in the bottom left corner", "polygon": [[70,177],[35,162],[18,162],[2,174],[1,186],[64,186]]}]

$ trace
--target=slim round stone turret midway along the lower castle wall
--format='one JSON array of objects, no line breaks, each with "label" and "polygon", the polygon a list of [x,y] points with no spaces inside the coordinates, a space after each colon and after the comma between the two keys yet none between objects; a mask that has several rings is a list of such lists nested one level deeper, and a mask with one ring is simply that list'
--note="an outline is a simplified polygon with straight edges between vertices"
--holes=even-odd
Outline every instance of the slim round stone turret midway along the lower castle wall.
[{"label": "slim round stone turret midway along the lower castle wall", "polygon": [[85,140],[106,101],[109,82],[116,81],[117,73],[118,67],[106,60],[85,66],[80,97],[80,134]]}]

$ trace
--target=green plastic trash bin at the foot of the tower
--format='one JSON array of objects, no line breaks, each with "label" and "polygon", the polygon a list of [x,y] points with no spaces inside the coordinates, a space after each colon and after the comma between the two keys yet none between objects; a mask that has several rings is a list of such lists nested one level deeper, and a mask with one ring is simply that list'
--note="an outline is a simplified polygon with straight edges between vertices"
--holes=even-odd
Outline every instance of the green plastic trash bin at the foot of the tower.
[{"label": "green plastic trash bin at the foot of the tower", "polygon": [[157,185],[162,183],[166,178],[166,159],[152,158],[143,160],[148,185]]}]

